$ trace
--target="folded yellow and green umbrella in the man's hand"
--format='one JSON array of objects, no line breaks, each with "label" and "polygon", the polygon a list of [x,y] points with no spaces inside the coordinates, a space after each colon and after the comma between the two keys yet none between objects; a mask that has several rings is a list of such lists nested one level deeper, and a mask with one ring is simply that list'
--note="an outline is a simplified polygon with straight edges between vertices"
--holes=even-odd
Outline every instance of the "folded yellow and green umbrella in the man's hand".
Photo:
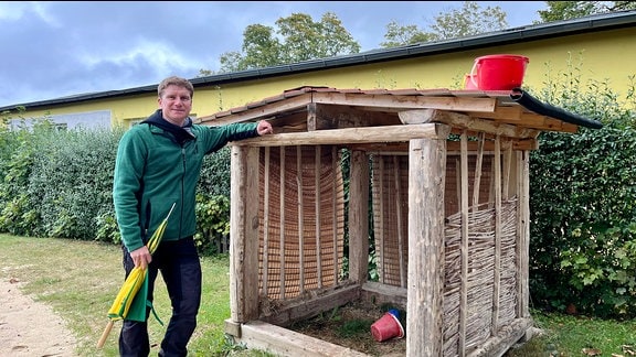
[{"label": "folded yellow and green umbrella in the man's hand", "polygon": [[[159,241],[163,237],[163,231],[166,231],[166,226],[168,226],[168,218],[172,214],[174,205],[176,203],[172,204],[170,212],[168,212],[168,216],[166,216],[163,221],[161,221],[159,227],[157,227],[157,230],[155,230],[152,237],[150,237],[150,239],[147,242],[148,250],[150,251],[151,255],[155,252],[155,250],[157,250]],[[126,281],[124,282],[124,285],[121,285],[121,288],[119,289],[117,296],[115,296],[115,301],[113,302],[110,310],[108,310],[108,317],[110,318],[110,321],[108,321],[108,324],[104,329],[104,333],[102,333],[102,337],[97,342],[97,348],[102,348],[104,346],[104,343],[108,337],[108,334],[110,334],[110,329],[113,329],[115,321],[124,318],[145,321],[146,305],[147,305],[146,290],[148,288],[148,281],[146,280],[147,275],[148,275],[147,269],[141,269],[139,267],[132,268],[132,270],[126,278]],[[140,290],[144,290],[142,294],[141,293],[137,294],[138,292],[140,292]],[[131,310],[130,306],[134,306],[134,309]],[[131,315],[134,315],[134,317],[131,317]]]}]

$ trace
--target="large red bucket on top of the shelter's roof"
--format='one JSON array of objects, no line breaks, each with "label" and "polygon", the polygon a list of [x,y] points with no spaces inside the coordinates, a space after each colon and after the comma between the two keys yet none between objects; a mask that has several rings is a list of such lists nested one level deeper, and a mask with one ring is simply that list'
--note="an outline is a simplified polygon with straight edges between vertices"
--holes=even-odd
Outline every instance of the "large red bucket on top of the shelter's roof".
[{"label": "large red bucket on top of the shelter's roof", "polygon": [[470,78],[481,90],[511,90],[521,87],[529,62],[526,56],[511,54],[477,57]]}]

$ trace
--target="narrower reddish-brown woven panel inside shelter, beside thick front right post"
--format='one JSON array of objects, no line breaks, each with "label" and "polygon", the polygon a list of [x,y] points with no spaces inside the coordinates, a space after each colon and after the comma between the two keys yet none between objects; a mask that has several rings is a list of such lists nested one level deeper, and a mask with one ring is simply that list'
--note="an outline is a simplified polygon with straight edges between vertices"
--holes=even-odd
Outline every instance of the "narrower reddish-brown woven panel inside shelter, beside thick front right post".
[{"label": "narrower reddish-brown woven panel inside shelter, beside thick front right post", "polygon": [[409,156],[372,158],[373,235],[379,282],[406,288]]}]

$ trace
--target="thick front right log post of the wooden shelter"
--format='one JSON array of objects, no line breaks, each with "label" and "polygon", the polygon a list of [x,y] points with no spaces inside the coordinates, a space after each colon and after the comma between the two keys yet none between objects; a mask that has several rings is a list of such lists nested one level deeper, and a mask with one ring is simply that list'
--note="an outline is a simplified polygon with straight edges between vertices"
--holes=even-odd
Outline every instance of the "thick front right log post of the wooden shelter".
[{"label": "thick front right log post of the wooden shelter", "polygon": [[412,139],[409,147],[409,289],[406,356],[442,356],[444,185],[446,137]]}]

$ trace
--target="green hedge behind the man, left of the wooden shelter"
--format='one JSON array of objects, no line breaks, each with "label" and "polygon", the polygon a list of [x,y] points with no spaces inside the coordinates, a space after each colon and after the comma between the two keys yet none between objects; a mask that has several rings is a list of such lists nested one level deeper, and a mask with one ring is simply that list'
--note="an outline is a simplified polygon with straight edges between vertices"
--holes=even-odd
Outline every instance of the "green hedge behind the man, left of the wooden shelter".
[{"label": "green hedge behind the man, left of the wooden shelter", "polygon": [[[0,231],[119,244],[112,188],[123,132],[57,130],[47,118],[29,130],[1,130]],[[229,154],[225,148],[206,158],[198,186],[203,253],[229,234]]]}]

